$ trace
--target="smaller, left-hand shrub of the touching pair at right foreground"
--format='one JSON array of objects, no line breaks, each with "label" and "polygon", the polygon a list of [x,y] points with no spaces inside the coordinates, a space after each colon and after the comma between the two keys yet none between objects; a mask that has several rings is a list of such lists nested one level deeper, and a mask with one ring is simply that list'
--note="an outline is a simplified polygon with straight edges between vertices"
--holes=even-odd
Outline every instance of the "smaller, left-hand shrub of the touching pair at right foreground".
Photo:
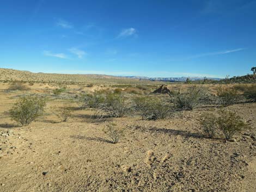
[{"label": "smaller, left-hand shrub of the touching pair at right foreground", "polygon": [[208,135],[209,138],[214,138],[216,131],[218,129],[217,117],[214,114],[203,114],[200,116],[200,125],[203,131]]}]

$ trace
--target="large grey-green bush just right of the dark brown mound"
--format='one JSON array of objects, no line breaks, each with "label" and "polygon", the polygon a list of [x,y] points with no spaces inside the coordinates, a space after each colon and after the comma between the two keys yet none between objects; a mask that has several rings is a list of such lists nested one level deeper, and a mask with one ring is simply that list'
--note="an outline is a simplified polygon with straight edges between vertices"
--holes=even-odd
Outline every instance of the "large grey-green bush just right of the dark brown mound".
[{"label": "large grey-green bush just right of the dark brown mound", "polygon": [[171,94],[169,94],[174,102],[175,106],[179,109],[183,110],[193,110],[200,104],[200,100],[202,100],[206,94],[202,87],[192,86],[186,92],[180,92],[174,95],[174,98]]}]

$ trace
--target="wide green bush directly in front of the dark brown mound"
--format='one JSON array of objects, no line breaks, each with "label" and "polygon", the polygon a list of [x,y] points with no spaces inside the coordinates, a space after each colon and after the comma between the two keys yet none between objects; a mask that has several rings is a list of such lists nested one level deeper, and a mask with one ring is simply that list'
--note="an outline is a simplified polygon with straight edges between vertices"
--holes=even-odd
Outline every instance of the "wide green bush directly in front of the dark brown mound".
[{"label": "wide green bush directly in front of the dark brown mound", "polygon": [[165,119],[172,112],[169,104],[160,98],[136,97],[133,102],[135,110],[141,112],[143,120]]}]

